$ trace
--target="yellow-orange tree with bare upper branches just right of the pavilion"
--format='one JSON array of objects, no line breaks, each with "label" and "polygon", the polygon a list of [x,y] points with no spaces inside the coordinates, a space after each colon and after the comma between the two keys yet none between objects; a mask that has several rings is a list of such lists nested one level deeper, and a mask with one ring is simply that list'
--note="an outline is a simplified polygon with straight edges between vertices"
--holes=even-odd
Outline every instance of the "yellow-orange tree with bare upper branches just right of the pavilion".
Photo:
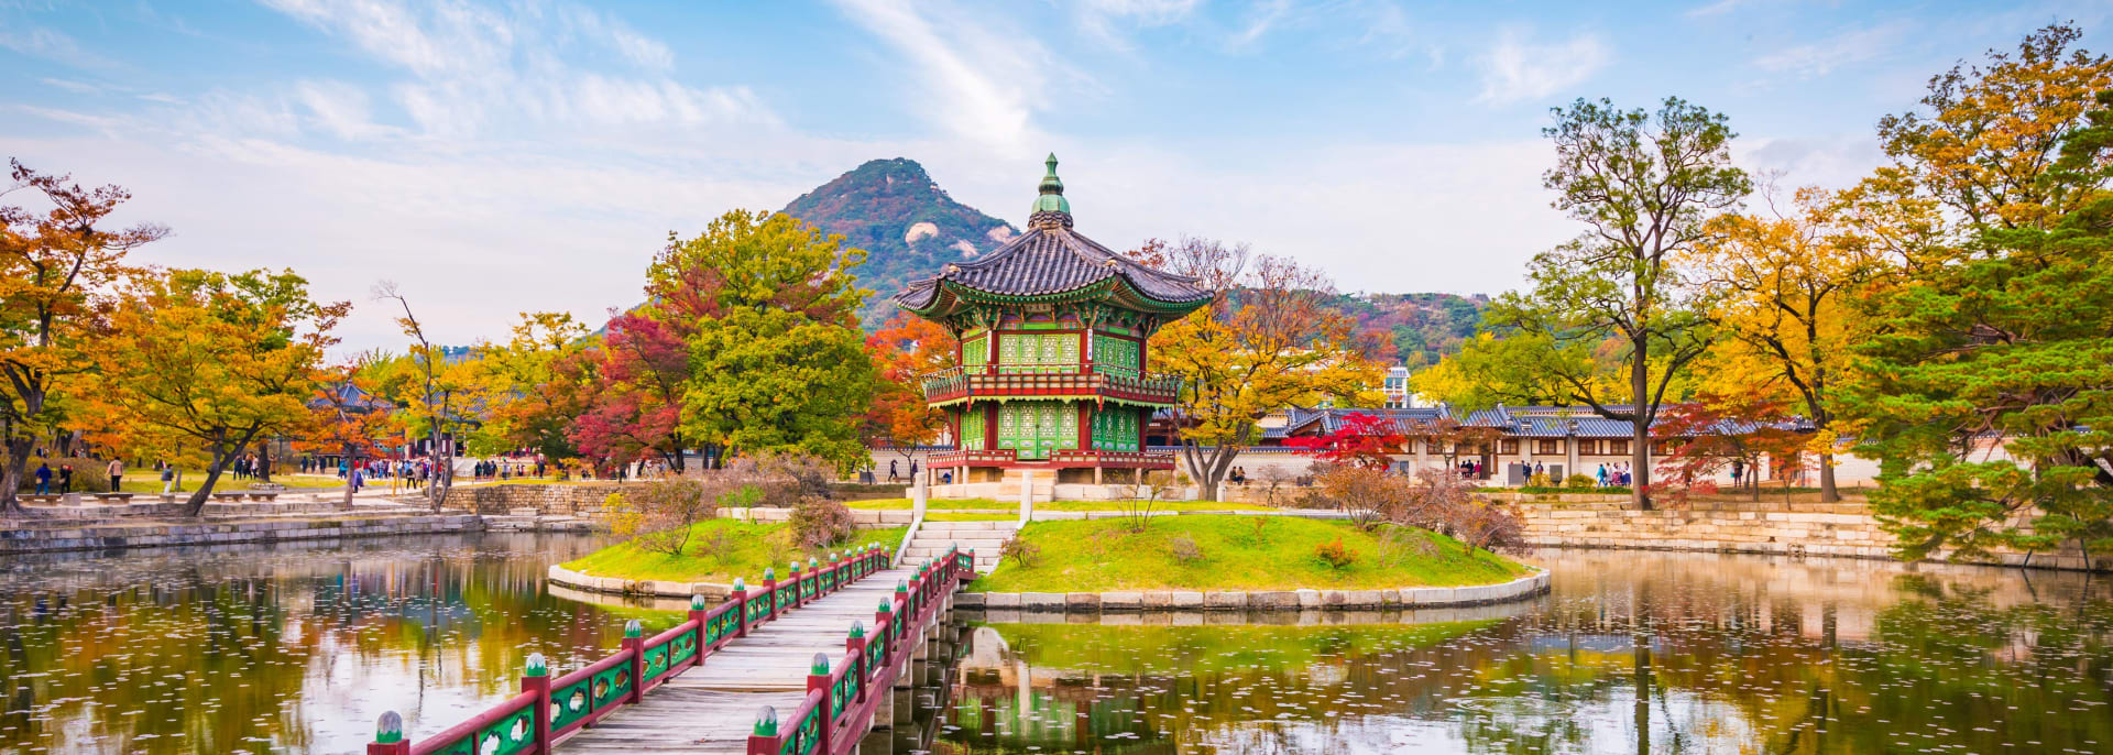
[{"label": "yellow-orange tree with bare upper branches just right of the pavilion", "polygon": [[1190,275],[1217,292],[1211,305],[1166,324],[1149,343],[1158,372],[1181,376],[1173,419],[1181,457],[1202,499],[1215,501],[1255,425],[1285,406],[1357,398],[1380,383],[1380,366],[1350,317],[1327,307],[1333,283],[1293,260],[1188,239],[1133,252],[1145,264]]}]

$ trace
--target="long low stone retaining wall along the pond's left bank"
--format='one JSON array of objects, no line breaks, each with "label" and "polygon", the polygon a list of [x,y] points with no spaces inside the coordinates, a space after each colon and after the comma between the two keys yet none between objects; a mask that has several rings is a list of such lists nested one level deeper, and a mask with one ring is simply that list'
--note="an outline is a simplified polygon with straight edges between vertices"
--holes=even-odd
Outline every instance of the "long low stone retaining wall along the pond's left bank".
[{"label": "long low stone retaining wall along the pond's left bank", "polygon": [[68,529],[0,529],[0,556],[53,550],[112,550],[256,544],[281,539],[387,537],[482,531],[469,514],[338,516],[251,522],[129,522]]}]

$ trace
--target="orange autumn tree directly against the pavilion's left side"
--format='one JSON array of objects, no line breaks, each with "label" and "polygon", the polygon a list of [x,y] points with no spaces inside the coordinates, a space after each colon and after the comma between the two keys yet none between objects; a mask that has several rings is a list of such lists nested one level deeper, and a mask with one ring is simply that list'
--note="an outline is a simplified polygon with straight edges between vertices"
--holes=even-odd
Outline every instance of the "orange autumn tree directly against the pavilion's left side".
[{"label": "orange autumn tree directly against the pavilion's left side", "polygon": [[938,440],[945,427],[947,412],[925,404],[923,376],[959,366],[959,343],[936,321],[896,313],[866,336],[866,353],[879,374],[864,419],[866,438],[894,446],[909,461],[913,446]]}]

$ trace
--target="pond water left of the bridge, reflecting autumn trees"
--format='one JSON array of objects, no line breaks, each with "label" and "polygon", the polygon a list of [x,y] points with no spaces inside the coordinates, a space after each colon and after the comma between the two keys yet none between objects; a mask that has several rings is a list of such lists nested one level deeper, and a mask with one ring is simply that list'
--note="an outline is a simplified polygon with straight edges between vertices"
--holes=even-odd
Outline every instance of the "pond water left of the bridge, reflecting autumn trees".
[{"label": "pond water left of the bridge, reflecting autumn trees", "polygon": [[518,687],[541,651],[575,668],[625,618],[554,599],[581,535],[61,554],[0,563],[0,751],[355,751],[374,719],[431,734]]}]

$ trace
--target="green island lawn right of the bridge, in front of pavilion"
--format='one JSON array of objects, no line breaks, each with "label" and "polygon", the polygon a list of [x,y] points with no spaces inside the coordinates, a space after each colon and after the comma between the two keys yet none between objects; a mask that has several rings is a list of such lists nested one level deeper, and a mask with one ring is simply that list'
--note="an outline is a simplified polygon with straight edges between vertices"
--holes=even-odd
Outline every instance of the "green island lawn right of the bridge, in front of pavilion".
[{"label": "green island lawn right of the bridge, in front of pavilion", "polygon": [[[1257,524],[1261,537],[1257,537]],[[1006,560],[970,584],[978,592],[1105,592],[1105,590],[1378,590],[1496,584],[1526,567],[1460,541],[1399,529],[1382,556],[1382,539],[1342,520],[1293,516],[1168,516],[1143,533],[1120,518],[1031,522],[1021,539],[1042,548],[1033,567]],[[1316,548],[1342,537],[1357,554],[1348,567],[1321,560]],[[1196,556],[1175,556],[1179,541]]]}]

